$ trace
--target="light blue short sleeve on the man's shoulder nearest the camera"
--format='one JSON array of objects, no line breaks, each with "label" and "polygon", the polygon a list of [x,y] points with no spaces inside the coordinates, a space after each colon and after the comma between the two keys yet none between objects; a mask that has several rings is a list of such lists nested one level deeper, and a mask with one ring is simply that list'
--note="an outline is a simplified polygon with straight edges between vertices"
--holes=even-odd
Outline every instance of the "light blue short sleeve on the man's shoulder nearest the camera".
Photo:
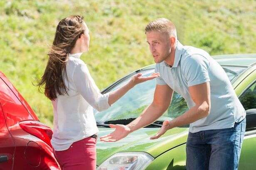
[{"label": "light blue short sleeve on the man's shoulder nearest the camera", "polygon": [[184,60],[182,71],[188,86],[194,86],[210,81],[209,61],[199,54],[193,54]]}]

